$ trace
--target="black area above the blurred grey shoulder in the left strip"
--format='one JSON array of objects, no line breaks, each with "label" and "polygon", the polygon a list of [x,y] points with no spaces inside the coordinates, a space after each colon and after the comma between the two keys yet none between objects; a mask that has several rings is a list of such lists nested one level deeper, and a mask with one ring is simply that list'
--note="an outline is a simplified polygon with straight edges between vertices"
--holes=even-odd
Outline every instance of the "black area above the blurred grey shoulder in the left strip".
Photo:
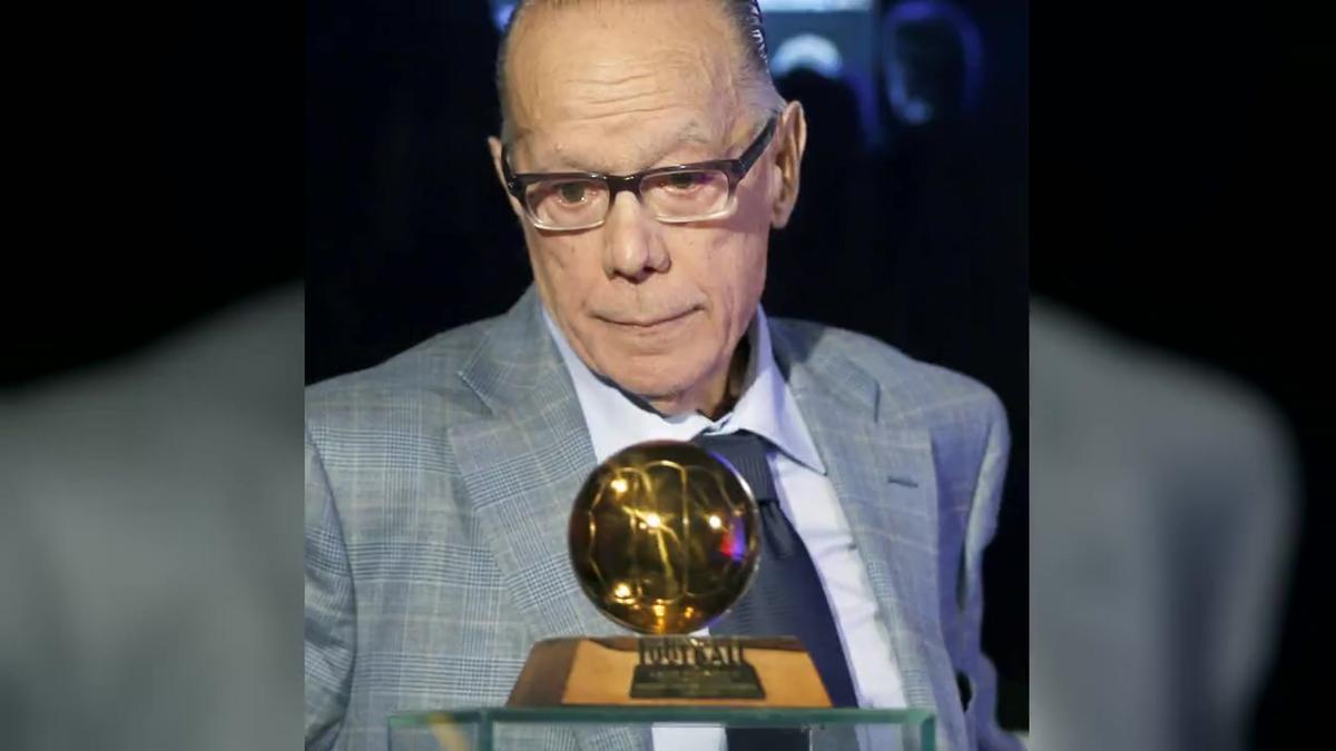
[{"label": "black area above the blurred grey shoulder in the left strip", "polygon": [[0,389],[301,278],[302,23],[202,1],[15,16]]}]

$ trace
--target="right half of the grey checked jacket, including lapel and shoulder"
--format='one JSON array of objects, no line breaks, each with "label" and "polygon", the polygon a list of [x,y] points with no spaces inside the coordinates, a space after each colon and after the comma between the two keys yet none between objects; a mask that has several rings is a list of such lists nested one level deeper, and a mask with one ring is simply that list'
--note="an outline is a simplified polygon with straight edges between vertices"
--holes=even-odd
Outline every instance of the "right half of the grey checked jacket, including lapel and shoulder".
[{"label": "right half of the grey checked jacket, including lapel and shoulder", "polygon": [[[864,564],[902,637],[896,653],[922,653],[926,673],[900,665],[907,700],[934,707],[943,748],[1015,751],[997,726],[997,673],[981,652],[982,556],[1010,452],[1002,402],[974,378],[864,334],[778,318],[771,333],[859,520]],[[874,528],[894,529],[895,544]]]}]

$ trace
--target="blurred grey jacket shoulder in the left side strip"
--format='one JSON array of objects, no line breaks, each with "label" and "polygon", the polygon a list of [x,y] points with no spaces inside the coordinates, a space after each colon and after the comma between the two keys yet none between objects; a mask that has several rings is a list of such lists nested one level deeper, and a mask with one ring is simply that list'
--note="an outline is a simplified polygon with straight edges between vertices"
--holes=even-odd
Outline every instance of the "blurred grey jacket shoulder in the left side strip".
[{"label": "blurred grey jacket shoulder in the left side strip", "polygon": [[0,400],[7,748],[301,742],[302,293]]}]

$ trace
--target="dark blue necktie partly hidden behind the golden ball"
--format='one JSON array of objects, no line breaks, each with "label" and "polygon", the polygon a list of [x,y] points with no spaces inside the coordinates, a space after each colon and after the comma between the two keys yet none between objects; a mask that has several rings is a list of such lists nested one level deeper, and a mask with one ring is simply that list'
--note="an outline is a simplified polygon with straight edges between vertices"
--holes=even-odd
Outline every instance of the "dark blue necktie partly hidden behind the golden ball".
[{"label": "dark blue necktie partly hidden behind the golden ball", "polygon": [[[762,555],[756,579],[747,593],[709,624],[709,632],[740,636],[796,636],[803,641],[826,684],[831,704],[856,707],[858,696],[848,675],[844,648],[831,615],[826,591],[807,545],[784,516],[766,458],[766,440],[755,433],[697,436],[695,444],[723,457],[751,486],[762,520]],[[767,748],[788,746],[784,734],[729,731],[728,747]],[[802,747],[804,746],[794,746]]]}]

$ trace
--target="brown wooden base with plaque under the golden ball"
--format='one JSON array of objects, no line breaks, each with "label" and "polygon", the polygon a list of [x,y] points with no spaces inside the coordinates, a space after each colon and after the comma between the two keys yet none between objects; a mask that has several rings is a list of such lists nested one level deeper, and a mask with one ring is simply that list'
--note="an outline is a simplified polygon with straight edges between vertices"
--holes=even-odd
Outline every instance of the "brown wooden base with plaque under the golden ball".
[{"label": "brown wooden base with plaque under the golden ball", "polygon": [[830,707],[792,636],[609,636],[538,641],[508,707]]}]

